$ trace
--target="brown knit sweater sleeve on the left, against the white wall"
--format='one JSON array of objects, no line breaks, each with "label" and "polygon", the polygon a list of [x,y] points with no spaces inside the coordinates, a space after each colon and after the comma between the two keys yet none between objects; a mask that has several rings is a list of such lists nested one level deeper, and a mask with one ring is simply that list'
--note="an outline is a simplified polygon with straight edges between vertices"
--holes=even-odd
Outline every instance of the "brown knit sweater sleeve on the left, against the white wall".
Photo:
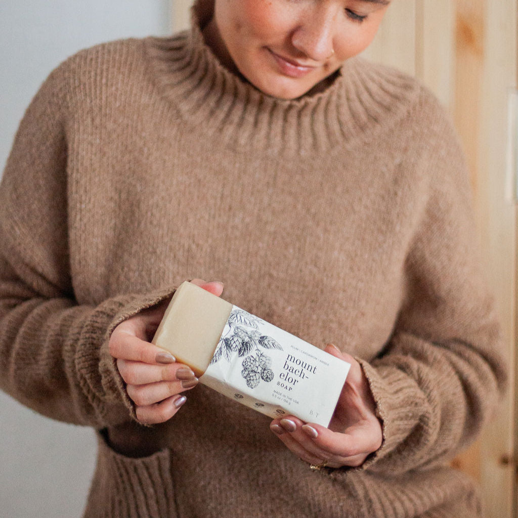
[{"label": "brown knit sweater sleeve on the left, against the white wall", "polygon": [[0,184],[0,389],[70,423],[134,416],[108,352],[111,330],[170,295],[121,295],[97,307],[74,295],[67,240],[66,64],[28,107]]}]

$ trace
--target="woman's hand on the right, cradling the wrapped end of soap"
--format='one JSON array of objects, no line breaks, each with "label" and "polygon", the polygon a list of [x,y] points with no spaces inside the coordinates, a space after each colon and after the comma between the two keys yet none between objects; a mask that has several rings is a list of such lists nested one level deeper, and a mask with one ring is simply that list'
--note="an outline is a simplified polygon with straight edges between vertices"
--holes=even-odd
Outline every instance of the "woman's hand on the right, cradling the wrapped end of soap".
[{"label": "woman's hand on the right, cradling the wrapped end of soap", "polygon": [[335,346],[327,346],[326,351],[351,364],[329,428],[287,416],[272,421],[270,429],[288,449],[314,467],[361,466],[380,448],[383,439],[376,405],[360,364]]}]

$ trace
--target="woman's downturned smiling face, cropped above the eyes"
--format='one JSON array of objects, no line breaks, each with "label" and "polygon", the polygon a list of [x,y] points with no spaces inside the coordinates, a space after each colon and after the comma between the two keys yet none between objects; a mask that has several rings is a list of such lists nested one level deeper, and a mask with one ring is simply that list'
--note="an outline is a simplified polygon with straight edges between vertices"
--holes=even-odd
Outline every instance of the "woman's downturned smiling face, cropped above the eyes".
[{"label": "woman's downturned smiling face, cropped above the eyes", "polygon": [[294,99],[374,38],[390,0],[215,0],[215,53],[268,95]]}]

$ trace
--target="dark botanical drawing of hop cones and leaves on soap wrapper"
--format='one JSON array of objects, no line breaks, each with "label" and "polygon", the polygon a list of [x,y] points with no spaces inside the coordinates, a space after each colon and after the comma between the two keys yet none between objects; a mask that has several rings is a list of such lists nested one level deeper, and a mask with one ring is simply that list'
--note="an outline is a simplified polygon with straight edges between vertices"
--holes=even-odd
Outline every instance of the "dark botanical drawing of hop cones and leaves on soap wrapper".
[{"label": "dark botanical drawing of hop cones and leaves on soap wrapper", "polygon": [[271,336],[261,335],[259,331],[261,322],[264,323],[257,316],[241,309],[234,309],[211,361],[211,363],[217,363],[224,358],[230,362],[237,353],[238,357],[243,358],[241,376],[250,389],[255,389],[261,380],[270,382],[274,379],[271,357],[265,353],[265,350],[282,351],[279,342]]}]

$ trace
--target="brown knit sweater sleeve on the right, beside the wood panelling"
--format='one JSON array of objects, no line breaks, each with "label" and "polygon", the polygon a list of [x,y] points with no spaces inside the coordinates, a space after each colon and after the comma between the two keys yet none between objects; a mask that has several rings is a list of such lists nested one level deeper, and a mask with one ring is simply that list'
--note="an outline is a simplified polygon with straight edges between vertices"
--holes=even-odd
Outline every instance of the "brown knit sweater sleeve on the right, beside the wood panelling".
[{"label": "brown knit sweater sleeve on the right, beside the wood panelling", "polygon": [[382,447],[365,469],[397,473],[452,458],[505,390],[463,153],[447,117],[438,119],[429,194],[404,265],[404,302],[382,354],[361,361],[383,424]]}]

